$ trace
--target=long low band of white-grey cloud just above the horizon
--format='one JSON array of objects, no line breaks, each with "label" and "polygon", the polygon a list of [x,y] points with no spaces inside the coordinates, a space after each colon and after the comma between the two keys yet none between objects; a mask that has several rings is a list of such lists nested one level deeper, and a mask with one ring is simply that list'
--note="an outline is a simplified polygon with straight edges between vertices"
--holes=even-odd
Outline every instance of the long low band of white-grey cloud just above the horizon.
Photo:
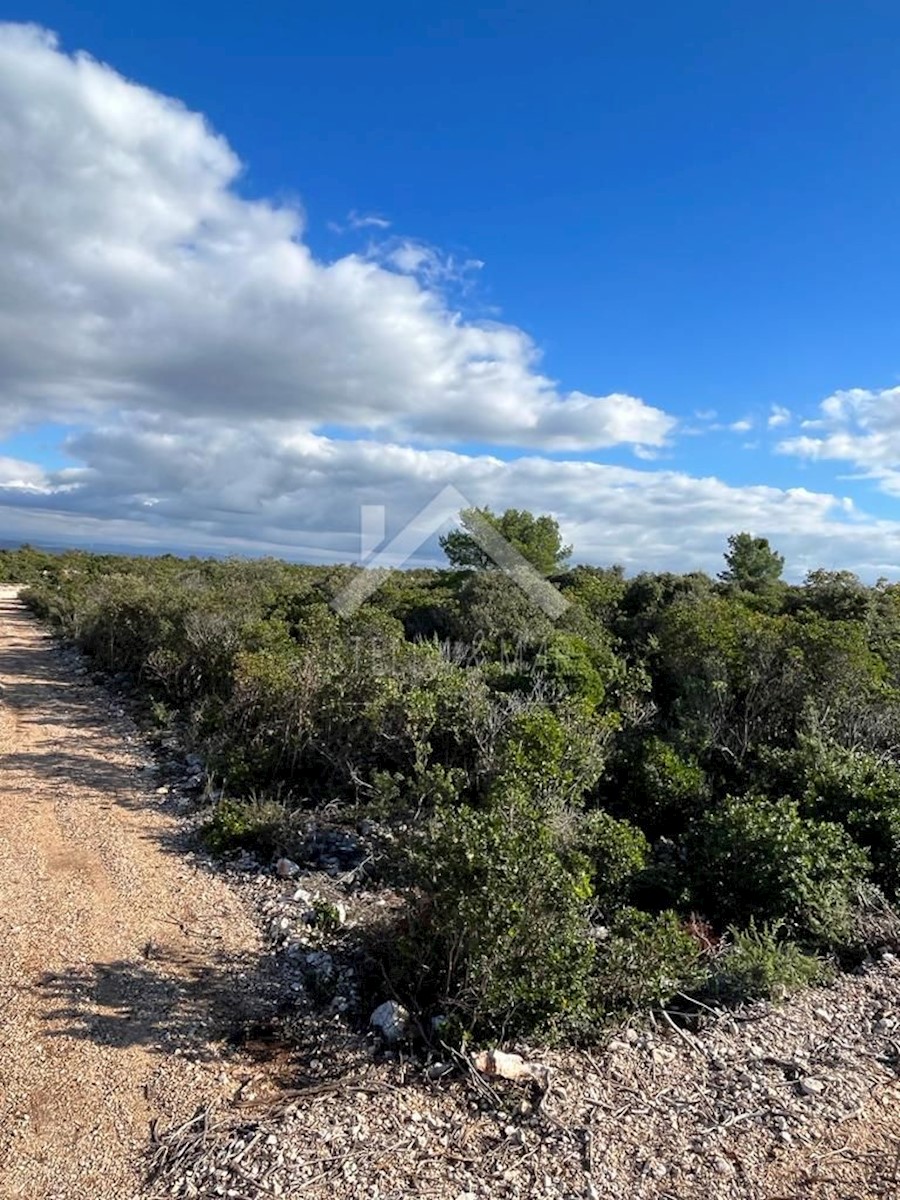
[{"label": "long low band of white-grey cloud just above the horizon", "polygon": [[[0,491],[0,504],[16,504],[20,536],[347,562],[359,547],[360,505],[386,505],[390,535],[452,484],[474,504],[553,512],[578,559],[630,570],[716,571],[728,534],[746,528],[769,536],[798,578],[820,565],[870,578],[894,574],[900,551],[899,522],[865,518],[847,499],[732,487],[678,470],[541,457],[506,462],[334,439],[281,422],[238,430],[158,414],[97,427],[67,450],[83,466],[48,473],[43,493]],[[116,520],[107,528],[109,514]]]}]

